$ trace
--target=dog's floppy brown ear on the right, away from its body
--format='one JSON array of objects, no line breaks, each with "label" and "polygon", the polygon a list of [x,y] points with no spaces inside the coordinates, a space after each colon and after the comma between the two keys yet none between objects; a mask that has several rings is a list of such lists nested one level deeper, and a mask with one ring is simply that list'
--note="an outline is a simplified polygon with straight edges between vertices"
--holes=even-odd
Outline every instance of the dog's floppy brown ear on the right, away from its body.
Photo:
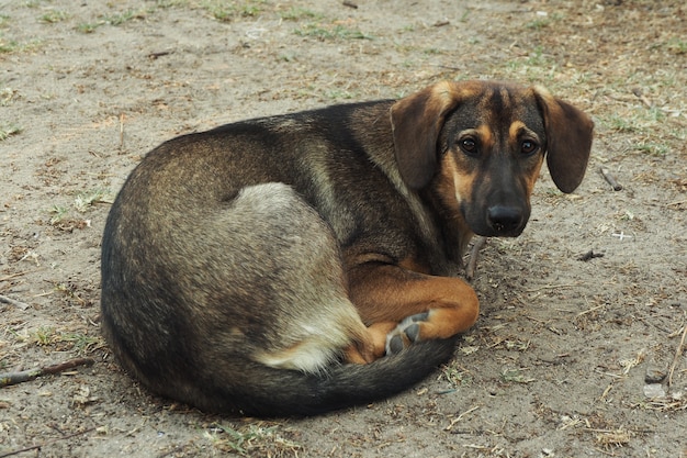
[{"label": "dog's floppy brown ear on the right, away from its body", "polygon": [[534,88],[534,96],[544,114],[549,172],[561,191],[573,192],[587,169],[594,122],[587,114],[553,98],[543,88]]}]

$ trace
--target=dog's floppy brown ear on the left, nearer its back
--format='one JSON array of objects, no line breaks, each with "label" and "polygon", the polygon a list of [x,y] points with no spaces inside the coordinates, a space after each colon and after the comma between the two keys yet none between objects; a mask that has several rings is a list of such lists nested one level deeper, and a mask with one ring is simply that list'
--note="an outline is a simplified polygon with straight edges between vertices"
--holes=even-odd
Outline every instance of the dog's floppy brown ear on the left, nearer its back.
[{"label": "dog's floppy brown ear on the left, nearer its back", "polygon": [[437,141],[449,111],[458,104],[454,87],[439,82],[398,100],[391,124],[398,171],[412,189],[426,187],[437,169]]}]

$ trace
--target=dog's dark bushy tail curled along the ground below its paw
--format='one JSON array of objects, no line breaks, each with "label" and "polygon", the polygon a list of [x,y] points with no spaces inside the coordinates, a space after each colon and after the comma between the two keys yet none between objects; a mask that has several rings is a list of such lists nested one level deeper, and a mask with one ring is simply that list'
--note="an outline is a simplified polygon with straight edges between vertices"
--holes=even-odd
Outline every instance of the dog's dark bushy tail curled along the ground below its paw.
[{"label": "dog's dark bushy tail curled along the ground below its paw", "polygon": [[261,382],[228,390],[215,387],[207,398],[212,404],[200,406],[275,417],[315,415],[365,404],[396,394],[426,378],[451,358],[457,339],[458,336],[419,342],[369,365],[335,366],[323,376],[254,364],[246,368],[254,372],[248,376]]}]

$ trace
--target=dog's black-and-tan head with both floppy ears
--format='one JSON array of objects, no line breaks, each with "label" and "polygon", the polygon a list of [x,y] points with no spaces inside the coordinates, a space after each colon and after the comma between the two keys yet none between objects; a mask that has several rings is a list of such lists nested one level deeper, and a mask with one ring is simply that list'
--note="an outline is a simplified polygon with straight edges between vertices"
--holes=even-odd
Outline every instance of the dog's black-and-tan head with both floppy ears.
[{"label": "dog's black-and-tan head with both floppy ears", "polygon": [[517,236],[547,158],[556,187],[581,183],[594,123],[543,88],[440,82],[391,109],[396,161],[415,190],[437,190],[472,232]]}]

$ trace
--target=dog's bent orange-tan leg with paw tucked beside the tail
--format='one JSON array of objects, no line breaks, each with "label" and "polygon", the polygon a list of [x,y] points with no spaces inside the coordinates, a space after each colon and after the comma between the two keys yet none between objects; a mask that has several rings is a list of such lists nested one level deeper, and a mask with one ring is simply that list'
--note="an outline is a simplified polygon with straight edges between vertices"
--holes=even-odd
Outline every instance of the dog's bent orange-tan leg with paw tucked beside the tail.
[{"label": "dog's bent orange-tan leg with paw tucked beside the tail", "polygon": [[464,332],[480,313],[474,290],[458,278],[388,265],[360,266],[349,277],[351,300],[369,326],[376,357]]}]

